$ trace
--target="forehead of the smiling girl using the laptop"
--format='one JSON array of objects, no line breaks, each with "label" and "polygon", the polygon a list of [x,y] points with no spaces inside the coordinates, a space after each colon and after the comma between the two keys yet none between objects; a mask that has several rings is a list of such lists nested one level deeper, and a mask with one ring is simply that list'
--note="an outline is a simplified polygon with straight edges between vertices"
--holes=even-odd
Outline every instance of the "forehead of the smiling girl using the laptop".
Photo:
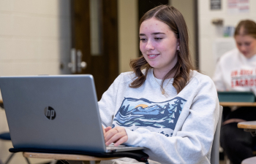
[{"label": "forehead of the smiling girl using the laptop", "polygon": [[167,26],[167,24],[152,17],[148,20],[144,20],[143,23],[141,23],[141,25],[140,25],[140,33],[147,32],[147,31],[168,33],[171,30],[170,30],[169,26]]}]

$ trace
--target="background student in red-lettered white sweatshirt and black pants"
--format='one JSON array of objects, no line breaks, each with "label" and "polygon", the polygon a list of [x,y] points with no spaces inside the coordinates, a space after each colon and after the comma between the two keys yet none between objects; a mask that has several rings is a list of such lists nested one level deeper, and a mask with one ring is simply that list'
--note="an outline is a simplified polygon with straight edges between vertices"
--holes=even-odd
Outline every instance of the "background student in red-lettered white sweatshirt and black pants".
[{"label": "background student in red-lettered white sweatshirt and black pants", "polygon": [[[236,49],[219,58],[214,73],[218,91],[252,91],[256,94],[256,23],[242,20],[234,34]],[[226,114],[227,111],[230,111]],[[231,112],[233,111],[233,112]],[[256,120],[255,107],[223,110],[220,143],[233,164],[252,157],[256,137],[237,127],[238,122]]]}]

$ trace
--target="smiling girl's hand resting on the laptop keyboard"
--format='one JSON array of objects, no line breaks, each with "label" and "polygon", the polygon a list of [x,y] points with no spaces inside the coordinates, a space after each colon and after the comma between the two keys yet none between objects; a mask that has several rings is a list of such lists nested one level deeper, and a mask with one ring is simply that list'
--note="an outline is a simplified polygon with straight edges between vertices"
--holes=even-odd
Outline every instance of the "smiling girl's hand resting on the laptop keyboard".
[{"label": "smiling girl's hand resting on the laptop keyboard", "polygon": [[105,144],[108,146],[111,143],[115,143],[115,147],[119,144],[123,144],[128,140],[127,132],[123,127],[116,127],[111,129],[110,127],[105,128]]}]

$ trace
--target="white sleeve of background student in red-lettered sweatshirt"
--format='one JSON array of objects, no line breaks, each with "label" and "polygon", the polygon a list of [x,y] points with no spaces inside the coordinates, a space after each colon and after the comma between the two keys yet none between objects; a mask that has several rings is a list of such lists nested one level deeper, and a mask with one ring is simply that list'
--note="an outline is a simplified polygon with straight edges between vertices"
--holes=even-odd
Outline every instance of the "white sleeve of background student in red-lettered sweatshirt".
[{"label": "white sleeve of background student in red-lettered sweatshirt", "polygon": [[217,90],[219,91],[225,91],[225,84],[223,81],[223,71],[222,71],[222,67],[221,67],[221,61],[219,60],[219,62],[216,65],[216,69],[214,71],[214,77],[212,77],[214,84],[217,88]]}]

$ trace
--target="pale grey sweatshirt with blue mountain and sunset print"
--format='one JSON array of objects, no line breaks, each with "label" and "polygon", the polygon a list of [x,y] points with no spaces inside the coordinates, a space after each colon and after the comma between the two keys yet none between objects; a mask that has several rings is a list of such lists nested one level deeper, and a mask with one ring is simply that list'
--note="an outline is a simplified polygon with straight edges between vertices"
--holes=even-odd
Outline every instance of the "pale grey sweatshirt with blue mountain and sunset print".
[{"label": "pale grey sweatshirt with blue mountain and sunset print", "polygon": [[217,90],[209,77],[197,71],[191,74],[189,84],[178,95],[173,79],[168,85],[165,80],[167,95],[162,95],[161,79],[154,78],[153,69],[138,88],[129,87],[135,74],[120,74],[99,101],[102,122],[126,128],[125,144],[146,147],[150,160],[210,163],[219,119]]}]

